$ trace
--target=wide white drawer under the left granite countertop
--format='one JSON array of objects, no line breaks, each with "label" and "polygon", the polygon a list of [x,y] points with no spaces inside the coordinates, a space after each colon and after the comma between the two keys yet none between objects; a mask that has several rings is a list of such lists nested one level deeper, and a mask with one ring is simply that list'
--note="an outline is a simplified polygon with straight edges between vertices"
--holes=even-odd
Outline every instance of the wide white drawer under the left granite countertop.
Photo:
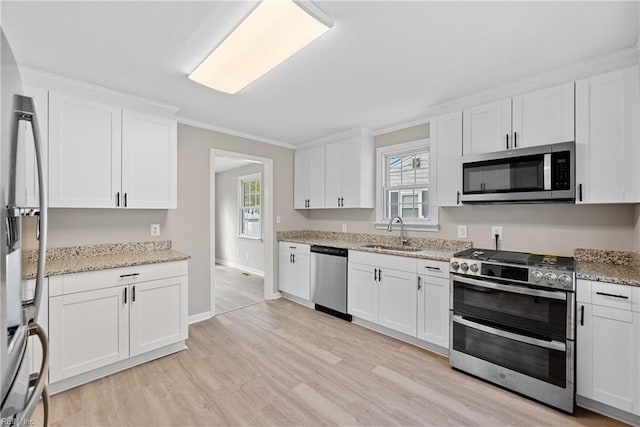
[{"label": "wide white drawer under the left granite countertop", "polygon": [[51,276],[49,278],[49,295],[67,295],[112,286],[184,276],[186,274],[187,261],[162,262],[133,267],[64,274],[61,276]]}]

